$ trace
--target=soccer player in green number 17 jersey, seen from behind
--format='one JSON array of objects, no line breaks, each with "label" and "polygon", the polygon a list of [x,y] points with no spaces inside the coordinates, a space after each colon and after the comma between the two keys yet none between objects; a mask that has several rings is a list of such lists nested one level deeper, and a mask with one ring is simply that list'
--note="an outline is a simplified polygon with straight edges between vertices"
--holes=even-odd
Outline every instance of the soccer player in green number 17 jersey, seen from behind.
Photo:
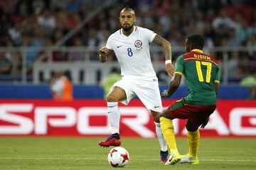
[{"label": "soccer player in green number 17 jersey, seen from behind", "polygon": [[[168,90],[161,96],[169,97],[181,83],[181,77],[186,78],[188,96],[181,98],[165,108],[161,113],[160,123],[164,138],[171,150],[168,164],[176,162],[199,164],[198,145],[200,133],[198,128],[204,128],[209,116],[216,108],[220,71],[213,57],[203,53],[204,40],[201,35],[190,35],[186,38],[186,54],[178,57],[174,77]],[[188,154],[180,155],[176,147],[174,135],[174,118],[187,119],[186,129]]]}]

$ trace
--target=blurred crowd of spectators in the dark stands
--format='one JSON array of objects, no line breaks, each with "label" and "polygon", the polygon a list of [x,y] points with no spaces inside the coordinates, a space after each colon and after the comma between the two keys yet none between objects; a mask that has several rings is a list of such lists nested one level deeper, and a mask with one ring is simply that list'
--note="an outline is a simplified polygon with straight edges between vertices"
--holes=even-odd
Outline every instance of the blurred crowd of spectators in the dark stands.
[{"label": "blurred crowd of spectators in the dark stands", "polygon": [[[55,46],[64,35],[87,18],[104,0],[0,0],[0,46]],[[119,29],[119,11],[127,1],[112,1],[105,10],[78,30],[63,46],[102,47],[107,38]],[[154,30],[171,42],[173,49],[182,47],[186,35],[204,36],[206,47],[234,47],[228,52],[230,78],[242,79],[256,72],[256,1],[254,0],[134,0],[129,1],[137,15],[137,26]],[[247,47],[241,52],[235,47]],[[41,50],[26,53],[29,62],[41,55]],[[211,52],[220,62],[223,53]],[[156,55],[156,54],[155,54]],[[153,60],[164,60],[164,55]],[[174,60],[178,53],[174,53]],[[20,53],[0,52],[0,74],[21,71]],[[91,52],[91,60],[97,53]],[[83,52],[56,52],[53,60],[84,60]],[[114,57],[113,57],[114,60]]]}]

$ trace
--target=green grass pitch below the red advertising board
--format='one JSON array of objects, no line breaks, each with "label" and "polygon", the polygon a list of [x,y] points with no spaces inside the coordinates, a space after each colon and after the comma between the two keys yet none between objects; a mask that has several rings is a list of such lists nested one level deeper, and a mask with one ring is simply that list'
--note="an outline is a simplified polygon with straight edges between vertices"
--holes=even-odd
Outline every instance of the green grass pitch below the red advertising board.
[{"label": "green grass pitch below the red advertising board", "polygon": [[[0,169],[256,169],[255,138],[203,138],[199,165],[159,162],[155,139],[122,138],[130,161],[124,168],[107,162],[110,148],[103,148],[97,137],[0,137]],[[187,152],[186,138],[177,139],[181,154]]]}]

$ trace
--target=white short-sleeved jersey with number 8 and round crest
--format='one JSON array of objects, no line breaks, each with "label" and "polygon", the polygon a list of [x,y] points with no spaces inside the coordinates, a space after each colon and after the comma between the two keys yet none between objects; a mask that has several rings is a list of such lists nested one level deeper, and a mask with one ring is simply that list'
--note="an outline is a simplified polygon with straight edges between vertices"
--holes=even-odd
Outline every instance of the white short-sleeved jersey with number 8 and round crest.
[{"label": "white short-sleeved jersey with number 8 and round crest", "polygon": [[150,42],[155,36],[153,31],[138,26],[134,26],[128,37],[122,29],[110,35],[106,47],[114,50],[122,76],[156,78],[149,52]]}]

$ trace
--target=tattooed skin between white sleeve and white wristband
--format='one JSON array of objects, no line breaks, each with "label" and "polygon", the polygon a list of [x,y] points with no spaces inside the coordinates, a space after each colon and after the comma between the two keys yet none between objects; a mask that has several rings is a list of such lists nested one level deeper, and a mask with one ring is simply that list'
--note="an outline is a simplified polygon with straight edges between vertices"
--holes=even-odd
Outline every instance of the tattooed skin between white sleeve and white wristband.
[{"label": "tattooed skin between white sleeve and white wristband", "polygon": [[160,35],[157,35],[154,37],[154,40],[152,41],[157,45],[161,45],[164,47],[164,55],[166,60],[171,59],[171,44],[164,38],[162,38]]}]

